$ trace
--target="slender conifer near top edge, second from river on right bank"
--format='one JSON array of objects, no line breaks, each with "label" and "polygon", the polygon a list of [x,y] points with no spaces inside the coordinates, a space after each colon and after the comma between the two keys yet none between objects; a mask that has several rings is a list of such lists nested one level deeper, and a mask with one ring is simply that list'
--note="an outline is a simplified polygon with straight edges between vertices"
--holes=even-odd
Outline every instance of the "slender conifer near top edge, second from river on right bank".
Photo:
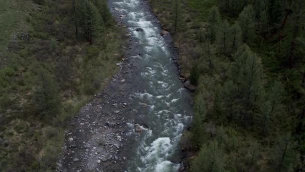
[{"label": "slender conifer near top edge, second from river on right bank", "polygon": [[211,43],[214,43],[216,40],[220,22],[220,13],[218,8],[214,6],[210,9],[208,17],[208,39],[211,41]]}]

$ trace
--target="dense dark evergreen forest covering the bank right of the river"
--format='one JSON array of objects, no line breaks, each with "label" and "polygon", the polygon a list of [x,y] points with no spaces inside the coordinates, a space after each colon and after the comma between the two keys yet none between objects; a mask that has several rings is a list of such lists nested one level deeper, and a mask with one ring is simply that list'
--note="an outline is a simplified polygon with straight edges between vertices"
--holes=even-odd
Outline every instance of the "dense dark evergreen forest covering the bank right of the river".
[{"label": "dense dark evergreen forest covering the bank right of the river", "polygon": [[149,3],[197,86],[189,171],[304,171],[305,2]]}]

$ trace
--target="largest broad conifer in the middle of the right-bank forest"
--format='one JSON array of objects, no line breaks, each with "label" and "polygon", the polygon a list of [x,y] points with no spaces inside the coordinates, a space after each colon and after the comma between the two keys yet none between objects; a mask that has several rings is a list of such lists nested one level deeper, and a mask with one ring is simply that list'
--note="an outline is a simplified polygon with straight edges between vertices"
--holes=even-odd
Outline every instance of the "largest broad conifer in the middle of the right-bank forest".
[{"label": "largest broad conifer in the middle of the right-bank forest", "polygon": [[243,45],[234,55],[235,62],[230,69],[230,78],[237,84],[237,92],[242,107],[243,121],[260,113],[264,88],[262,87],[262,66],[260,59],[247,45]]}]

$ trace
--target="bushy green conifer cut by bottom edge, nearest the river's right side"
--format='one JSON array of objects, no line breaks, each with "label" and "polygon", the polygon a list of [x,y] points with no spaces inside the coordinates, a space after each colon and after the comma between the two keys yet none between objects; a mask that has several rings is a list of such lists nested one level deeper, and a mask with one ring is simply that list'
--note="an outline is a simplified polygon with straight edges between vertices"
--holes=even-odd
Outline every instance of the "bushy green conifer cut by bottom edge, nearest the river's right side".
[{"label": "bushy green conifer cut by bottom edge, nearest the river's right side", "polygon": [[218,145],[217,141],[212,141],[201,147],[198,156],[193,160],[190,171],[221,172],[225,170],[225,161],[223,148]]}]

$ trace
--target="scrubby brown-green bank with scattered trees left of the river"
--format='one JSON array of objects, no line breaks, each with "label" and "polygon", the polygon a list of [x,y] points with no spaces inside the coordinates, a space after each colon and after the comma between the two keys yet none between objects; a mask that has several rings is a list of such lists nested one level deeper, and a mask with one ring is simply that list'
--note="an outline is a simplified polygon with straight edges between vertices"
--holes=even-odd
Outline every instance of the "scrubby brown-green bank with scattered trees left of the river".
[{"label": "scrubby brown-green bank with scattered trees left of the river", "polygon": [[55,171],[67,121],[115,73],[125,38],[103,0],[15,3],[26,17],[2,47],[0,171]]}]

